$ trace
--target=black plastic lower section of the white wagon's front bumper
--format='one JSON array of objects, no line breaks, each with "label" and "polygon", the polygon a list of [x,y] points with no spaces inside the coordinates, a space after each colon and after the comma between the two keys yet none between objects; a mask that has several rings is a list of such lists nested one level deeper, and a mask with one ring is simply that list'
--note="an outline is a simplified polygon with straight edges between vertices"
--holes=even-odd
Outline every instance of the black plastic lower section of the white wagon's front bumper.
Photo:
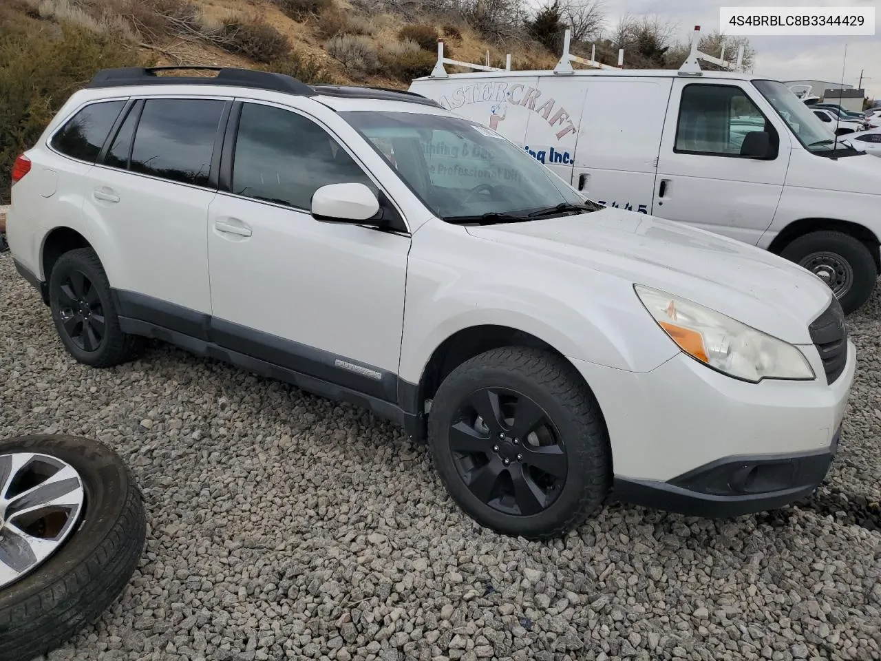
[{"label": "black plastic lower section of the white wagon's front bumper", "polygon": [[612,498],[632,505],[707,518],[776,509],[812,494],[838,449],[791,455],[725,457],[667,482],[616,477]]}]

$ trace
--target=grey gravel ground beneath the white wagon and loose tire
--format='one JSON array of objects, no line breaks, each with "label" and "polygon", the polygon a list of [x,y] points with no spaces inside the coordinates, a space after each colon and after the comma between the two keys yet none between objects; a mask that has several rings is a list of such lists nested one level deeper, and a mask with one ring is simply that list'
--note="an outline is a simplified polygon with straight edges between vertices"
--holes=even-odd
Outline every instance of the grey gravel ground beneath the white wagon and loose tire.
[{"label": "grey gravel ground beneath the white wagon and loose tire", "polygon": [[552,543],[478,528],[425,449],[351,406],[164,345],[79,366],[8,253],[0,309],[0,437],[108,442],[148,508],[129,588],[50,659],[881,659],[881,293],[809,503],[612,506]]}]

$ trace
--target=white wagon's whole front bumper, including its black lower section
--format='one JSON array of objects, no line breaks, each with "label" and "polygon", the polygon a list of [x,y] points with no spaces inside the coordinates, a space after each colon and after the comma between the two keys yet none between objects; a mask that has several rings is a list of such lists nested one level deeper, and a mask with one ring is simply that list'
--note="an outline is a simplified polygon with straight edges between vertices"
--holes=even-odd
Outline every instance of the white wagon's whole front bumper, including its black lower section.
[{"label": "white wagon's whole front bumper, including its black lower section", "polygon": [[815,381],[738,381],[684,354],[643,374],[573,360],[609,432],[612,499],[715,517],[811,494],[838,448],[856,355],[848,339],[830,385],[817,349],[801,348]]}]

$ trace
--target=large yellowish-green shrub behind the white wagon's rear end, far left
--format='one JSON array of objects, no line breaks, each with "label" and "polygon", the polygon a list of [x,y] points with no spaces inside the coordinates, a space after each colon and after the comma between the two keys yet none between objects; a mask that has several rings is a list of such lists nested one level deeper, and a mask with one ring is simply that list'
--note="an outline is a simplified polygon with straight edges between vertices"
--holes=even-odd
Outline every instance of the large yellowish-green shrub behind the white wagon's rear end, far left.
[{"label": "large yellowish-green shrub behind the white wagon's rear end, far left", "polygon": [[[29,149],[71,93],[105,68],[144,65],[115,40],[82,26],[45,26],[0,7],[0,203],[9,201],[12,163]],[[19,17],[21,15],[19,14]]]}]

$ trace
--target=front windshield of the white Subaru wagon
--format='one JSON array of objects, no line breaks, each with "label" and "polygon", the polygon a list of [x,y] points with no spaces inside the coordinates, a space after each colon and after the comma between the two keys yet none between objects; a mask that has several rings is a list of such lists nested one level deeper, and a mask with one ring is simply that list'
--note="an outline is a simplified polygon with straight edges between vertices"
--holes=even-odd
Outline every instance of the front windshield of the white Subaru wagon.
[{"label": "front windshield of the white Subaru wagon", "polygon": [[596,208],[529,153],[478,123],[412,112],[340,115],[448,222],[517,222]]}]

